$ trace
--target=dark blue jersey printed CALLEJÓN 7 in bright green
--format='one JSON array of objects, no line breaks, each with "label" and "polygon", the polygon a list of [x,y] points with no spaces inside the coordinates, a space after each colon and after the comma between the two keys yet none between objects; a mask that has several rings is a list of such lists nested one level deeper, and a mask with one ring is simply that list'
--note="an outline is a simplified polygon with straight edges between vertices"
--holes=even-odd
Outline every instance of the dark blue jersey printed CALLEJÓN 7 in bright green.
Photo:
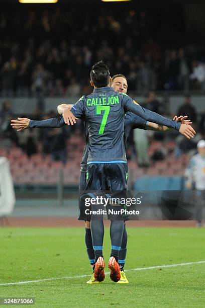
[{"label": "dark blue jersey printed CALLEJ\u00d3N 7 in bright green", "polygon": [[71,108],[77,118],[88,127],[87,163],[126,162],[124,123],[125,113],[131,111],[146,121],[179,130],[180,123],[167,119],[147,110],[129,96],[104,87],[94,89],[93,93],[83,96]]}]

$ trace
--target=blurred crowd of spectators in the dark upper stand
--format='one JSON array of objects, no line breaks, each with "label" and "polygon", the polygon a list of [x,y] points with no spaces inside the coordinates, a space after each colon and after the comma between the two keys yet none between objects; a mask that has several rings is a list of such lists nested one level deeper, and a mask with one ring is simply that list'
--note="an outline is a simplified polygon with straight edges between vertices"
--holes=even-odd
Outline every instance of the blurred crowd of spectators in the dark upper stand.
[{"label": "blurred crowd of spectators in the dark upper stand", "polygon": [[1,95],[88,93],[90,66],[99,59],[127,76],[130,91],[205,90],[204,46],[182,16],[173,23],[164,10],[157,18],[150,10],[113,12],[2,10]]}]

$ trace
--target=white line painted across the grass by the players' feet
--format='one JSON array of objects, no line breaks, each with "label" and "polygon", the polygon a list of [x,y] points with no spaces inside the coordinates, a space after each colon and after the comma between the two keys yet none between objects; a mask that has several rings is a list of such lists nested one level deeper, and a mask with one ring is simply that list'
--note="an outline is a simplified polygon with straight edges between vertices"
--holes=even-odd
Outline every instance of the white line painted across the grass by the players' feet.
[{"label": "white line painted across the grass by the players' feet", "polygon": [[[143,271],[155,268],[166,268],[166,267],[176,267],[176,266],[185,266],[185,265],[192,265],[192,264],[202,264],[205,263],[204,261],[195,261],[195,262],[186,262],[186,263],[176,263],[176,264],[167,264],[167,265],[156,265],[156,266],[148,266],[148,267],[137,267],[132,269],[125,270],[128,271]],[[110,274],[110,272],[106,272],[106,274]],[[38,280],[27,280],[27,281],[18,281],[18,282],[7,282],[7,283],[0,283],[1,285],[14,285],[14,284],[27,284],[32,282],[41,282],[41,281],[51,281],[51,280],[60,280],[60,279],[75,279],[75,278],[84,278],[88,277],[90,274],[87,275],[78,275],[78,276],[64,276],[64,277],[56,277],[56,278],[44,278]]]}]

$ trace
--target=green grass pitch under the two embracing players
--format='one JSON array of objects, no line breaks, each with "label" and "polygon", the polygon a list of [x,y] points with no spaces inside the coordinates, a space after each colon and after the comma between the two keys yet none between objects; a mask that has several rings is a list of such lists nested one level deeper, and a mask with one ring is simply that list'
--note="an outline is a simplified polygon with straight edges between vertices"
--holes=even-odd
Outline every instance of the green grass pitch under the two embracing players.
[{"label": "green grass pitch under the two embracing players", "polygon": [[[204,228],[127,228],[125,269],[129,284],[88,285],[90,266],[84,228],[0,228],[0,284],[88,275],[18,285],[0,285],[0,297],[35,297],[36,307],[204,307],[205,263],[131,270],[205,260]],[[109,230],[104,240],[110,253]],[[106,270],[107,271],[107,270]],[[12,305],[19,307],[20,305]],[[21,305],[22,306],[22,305]]]}]

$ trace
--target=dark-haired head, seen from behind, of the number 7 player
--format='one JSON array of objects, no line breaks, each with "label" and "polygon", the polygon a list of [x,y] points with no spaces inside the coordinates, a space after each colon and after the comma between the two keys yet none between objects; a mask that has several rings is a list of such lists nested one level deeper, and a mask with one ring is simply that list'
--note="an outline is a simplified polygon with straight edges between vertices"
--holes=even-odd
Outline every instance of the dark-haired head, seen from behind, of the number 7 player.
[{"label": "dark-haired head, seen from behind, of the number 7 player", "polygon": [[92,66],[90,79],[95,87],[106,87],[109,84],[109,78],[109,67],[103,61],[99,61]]}]

